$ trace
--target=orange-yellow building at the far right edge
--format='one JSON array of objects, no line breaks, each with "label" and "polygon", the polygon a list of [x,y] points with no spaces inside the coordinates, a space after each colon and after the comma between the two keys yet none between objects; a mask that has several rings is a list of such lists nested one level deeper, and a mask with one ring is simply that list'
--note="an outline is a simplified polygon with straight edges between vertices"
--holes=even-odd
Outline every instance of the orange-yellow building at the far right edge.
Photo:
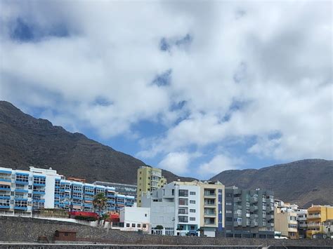
[{"label": "orange-yellow building at the far right edge", "polygon": [[313,234],[322,234],[324,232],[323,222],[333,220],[332,206],[312,206],[308,208],[308,230],[306,238],[312,238]]}]

